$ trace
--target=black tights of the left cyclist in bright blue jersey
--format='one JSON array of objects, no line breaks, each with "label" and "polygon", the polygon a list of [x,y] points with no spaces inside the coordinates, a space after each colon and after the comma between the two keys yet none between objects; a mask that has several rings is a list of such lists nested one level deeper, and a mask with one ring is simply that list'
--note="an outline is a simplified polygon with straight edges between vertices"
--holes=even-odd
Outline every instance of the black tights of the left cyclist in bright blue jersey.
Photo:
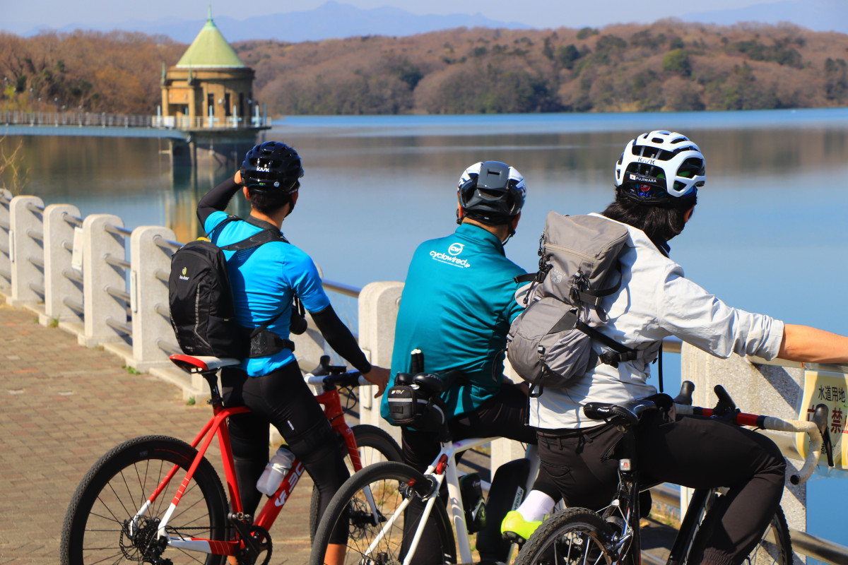
[{"label": "black tights of the left cyclist in bright blue jersey", "polygon": [[[274,424],[321,492],[323,515],[332,496],[350,475],[338,439],[304,382],[298,363],[288,363],[261,377],[248,377],[239,369],[225,368],[221,385],[226,406],[243,405],[251,410],[231,416],[227,425],[244,512],[254,514],[262,498],[256,481],[268,463],[268,424]],[[343,544],[347,539],[347,528],[339,528],[333,531],[330,543]]]}]

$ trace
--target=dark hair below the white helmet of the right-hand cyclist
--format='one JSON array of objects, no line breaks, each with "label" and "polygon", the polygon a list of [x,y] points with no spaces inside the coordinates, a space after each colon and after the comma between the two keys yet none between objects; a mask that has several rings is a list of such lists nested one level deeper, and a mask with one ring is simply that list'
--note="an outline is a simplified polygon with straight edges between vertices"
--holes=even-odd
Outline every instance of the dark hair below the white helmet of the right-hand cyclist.
[{"label": "dark hair below the white helmet of the right-hand cyclist", "polygon": [[616,200],[606,207],[603,214],[622,224],[632,225],[644,231],[645,235],[659,249],[667,241],[683,231],[686,225],[686,211],[695,206],[698,197],[668,198],[662,205],[642,204],[628,198],[621,187],[616,188]]}]

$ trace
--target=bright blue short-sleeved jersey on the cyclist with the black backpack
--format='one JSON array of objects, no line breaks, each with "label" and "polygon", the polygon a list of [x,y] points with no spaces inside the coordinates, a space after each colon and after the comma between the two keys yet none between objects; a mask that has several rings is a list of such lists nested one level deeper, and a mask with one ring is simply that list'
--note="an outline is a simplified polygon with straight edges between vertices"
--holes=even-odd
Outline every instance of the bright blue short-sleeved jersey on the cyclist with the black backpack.
[{"label": "bright blue short-sleeved jersey on the cyclist with the black backpack", "polygon": [[[206,219],[204,230],[213,233],[215,226],[226,219],[224,212],[213,212]],[[226,224],[212,242],[223,247],[259,233],[260,228],[244,221]],[[233,255],[236,254],[236,257]],[[309,255],[282,241],[271,241],[249,252],[225,251],[226,269],[230,274],[236,319],[246,328],[257,328],[270,319],[268,326],[276,335],[288,338],[292,301],[296,294],[310,312],[321,312],[330,306],[321,277]],[[245,359],[242,368],[252,377],[292,363],[294,354],[284,349],[274,355]]]}]

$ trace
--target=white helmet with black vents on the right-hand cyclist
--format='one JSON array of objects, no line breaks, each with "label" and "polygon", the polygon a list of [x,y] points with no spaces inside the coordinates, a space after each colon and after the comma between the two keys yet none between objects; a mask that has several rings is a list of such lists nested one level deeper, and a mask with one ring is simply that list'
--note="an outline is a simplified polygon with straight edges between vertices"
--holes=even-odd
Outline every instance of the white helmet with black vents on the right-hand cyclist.
[{"label": "white helmet with black vents on the right-hand cyclist", "polygon": [[655,130],[630,140],[616,163],[616,186],[636,202],[694,196],[706,182],[704,155],[681,134]]}]

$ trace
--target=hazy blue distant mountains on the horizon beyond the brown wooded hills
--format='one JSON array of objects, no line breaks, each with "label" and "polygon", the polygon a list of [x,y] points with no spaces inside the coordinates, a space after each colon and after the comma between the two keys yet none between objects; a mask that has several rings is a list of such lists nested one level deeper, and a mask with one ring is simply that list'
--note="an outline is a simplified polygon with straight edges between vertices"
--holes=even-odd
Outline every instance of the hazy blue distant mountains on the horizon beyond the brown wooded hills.
[{"label": "hazy blue distant mountains on the horizon beyond the brown wooded hills", "polygon": [[[848,33],[848,3],[845,3],[845,0],[781,0],[747,8],[692,12],[683,14],[679,19],[720,25],[733,25],[744,21],[758,21],[766,24],[786,21],[811,30]],[[77,29],[141,31],[149,35],[169,36],[177,42],[190,43],[203,24],[203,19],[169,18],[155,21],[133,19],[109,25],[70,24],[59,28],[59,31]],[[335,2],[335,0],[303,12],[266,14],[248,19],[220,16],[215,17],[215,24],[228,42],[251,39],[304,42],[332,37],[412,36],[463,26],[533,29],[531,25],[490,19],[483,14],[418,15],[392,7],[361,9]],[[578,22],[571,25],[571,27],[580,26]],[[20,36],[33,36],[43,29],[43,26],[35,24],[0,22],[0,30],[11,31]]]}]

